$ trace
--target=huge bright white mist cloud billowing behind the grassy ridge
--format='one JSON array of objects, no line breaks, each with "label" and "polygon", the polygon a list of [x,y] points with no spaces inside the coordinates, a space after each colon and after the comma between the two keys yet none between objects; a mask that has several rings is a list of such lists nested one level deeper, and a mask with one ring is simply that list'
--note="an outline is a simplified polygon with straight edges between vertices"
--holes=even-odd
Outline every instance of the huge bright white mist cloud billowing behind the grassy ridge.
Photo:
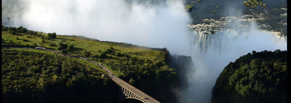
[{"label": "huge bright white mist cloud billowing behind the grassy ridge", "polygon": [[[189,31],[186,26],[191,22],[182,0],[155,3],[125,0],[13,1],[2,1],[4,26],[23,26],[45,33],[84,35],[101,41],[148,47],[185,45],[187,38],[184,35]],[[3,5],[9,9],[3,9]],[[177,53],[180,50],[171,51]]]}]

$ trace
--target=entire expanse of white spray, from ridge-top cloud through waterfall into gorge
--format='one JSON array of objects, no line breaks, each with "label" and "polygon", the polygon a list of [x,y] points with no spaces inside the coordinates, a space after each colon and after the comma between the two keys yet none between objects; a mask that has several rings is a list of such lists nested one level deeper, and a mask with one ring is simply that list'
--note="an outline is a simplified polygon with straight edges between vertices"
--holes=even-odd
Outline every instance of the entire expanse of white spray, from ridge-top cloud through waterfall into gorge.
[{"label": "entire expanse of white spray, from ridge-top cloud through waterfall into gorge", "polygon": [[4,26],[166,47],[171,54],[191,56],[195,69],[185,74],[188,88],[177,93],[182,103],[210,102],[217,77],[240,56],[253,50],[287,50],[285,37],[259,30],[253,19],[222,17],[205,21],[211,23],[190,24],[182,0],[2,1]]}]

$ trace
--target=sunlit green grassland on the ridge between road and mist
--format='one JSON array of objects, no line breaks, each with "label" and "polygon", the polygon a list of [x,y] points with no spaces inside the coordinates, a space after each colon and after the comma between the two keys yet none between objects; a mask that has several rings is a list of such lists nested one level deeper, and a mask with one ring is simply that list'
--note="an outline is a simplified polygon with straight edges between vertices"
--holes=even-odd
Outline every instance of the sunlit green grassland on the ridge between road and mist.
[{"label": "sunlit green grassland on the ridge between road and mist", "polygon": [[[39,33],[39,32],[37,32]],[[162,49],[153,49],[148,47],[140,47],[136,45],[126,44],[126,43],[118,43],[118,42],[108,42],[108,41],[99,41],[96,39],[86,38],[84,36],[68,36],[68,35],[56,35],[56,39],[50,39],[47,40],[47,33],[41,33],[42,36],[44,36],[44,39],[41,39],[41,37],[38,37],[37,35],[31,35],[27,33],[16,33],[15,35],[12,35],[11,33],[8,33],[8,31],[2,31],[2,38],[5,42],[10,42],[12,40],[15,45],[20,46],[35,46],[34,43],[37,44],[39,47],[45,47],[47,49],[54,49],[57,50],[57,45],[60,42],[63,42],[67,45],[73,45],[74,49],[70,51],[68,54],[77,55],[84,57],[84,51],[88,51],[91,53],[91,57],[88,57],[88,59],[93,60],[95,62],[100,62],[105,64],[107,67],[115,68],[114,64],[126,64],[128,61],[124,60],[126,59],[123,57],[125,54],[129,55],[130,58],[136,60],[136,61],[143,61],[146,60],[149,63],[156,63],[158,61],[164,61],[165,58],[165,52],[162,51]],[[16,38],[19,38],[17,40]],[[23,41],[23,39],[27,41]],[[44,40],[45,42],[42,42]],[[49,46],[49,44],[53,43],[54,46]],[[10,46],[9,43],[3,44],[2,46]],[[98,58],[99,55],[101,55],[102,52],[105,52],[107,49],[110,49],[110,47],[113,47],[113,50],[110,51],[110,53],[106,54],[106,58]],[[98,52],[100,50],[101,52]],[[116,53],[120,52],[122,56],[116,56]],[[114,62],[114,64],[108,64],[108,63]],[[165,65],[165,64],[164,64]],[[165,65],[166,66],[166,65]],[[116,69],[112,69],[114,73],[118,74],[118,76],[122,75],[119,72],[116,72]]]}]

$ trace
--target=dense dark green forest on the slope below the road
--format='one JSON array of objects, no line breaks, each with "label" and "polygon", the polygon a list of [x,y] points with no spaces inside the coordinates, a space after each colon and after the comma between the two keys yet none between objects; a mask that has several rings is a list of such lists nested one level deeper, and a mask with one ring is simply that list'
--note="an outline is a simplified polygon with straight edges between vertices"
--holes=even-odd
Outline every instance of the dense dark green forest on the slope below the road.
[{"label": "dense dark green forest on the slope below the road", "polygon": [[117,102],[103,72],[40,50],[2,49],[2,102]]}]

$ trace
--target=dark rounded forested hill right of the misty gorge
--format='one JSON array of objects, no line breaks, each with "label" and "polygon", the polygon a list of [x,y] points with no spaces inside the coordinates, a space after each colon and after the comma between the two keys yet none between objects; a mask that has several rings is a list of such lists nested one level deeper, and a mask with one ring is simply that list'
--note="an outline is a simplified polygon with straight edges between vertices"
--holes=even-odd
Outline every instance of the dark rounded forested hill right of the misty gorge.
[{"label": "dark rounded forested hill right of the misty gorge", "polygon": [[212,102],[287,103],[287,51],[253,51],[217,78]]}]

